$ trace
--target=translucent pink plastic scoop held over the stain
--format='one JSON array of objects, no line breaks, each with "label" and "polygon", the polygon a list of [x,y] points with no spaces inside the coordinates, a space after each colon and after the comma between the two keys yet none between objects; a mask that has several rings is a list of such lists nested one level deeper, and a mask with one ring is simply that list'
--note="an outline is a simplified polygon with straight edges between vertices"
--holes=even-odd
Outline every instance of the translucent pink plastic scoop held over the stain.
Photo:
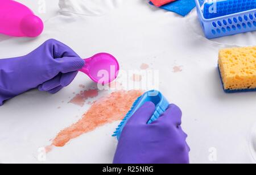
[{"label": "translucent pink plastic scoop held over the stain", "polygon": [[98,53],[85,60],[80,71],[88,75],[94,82],[108,84],[115,80],[119,72],[117,59],[109,53]]}]

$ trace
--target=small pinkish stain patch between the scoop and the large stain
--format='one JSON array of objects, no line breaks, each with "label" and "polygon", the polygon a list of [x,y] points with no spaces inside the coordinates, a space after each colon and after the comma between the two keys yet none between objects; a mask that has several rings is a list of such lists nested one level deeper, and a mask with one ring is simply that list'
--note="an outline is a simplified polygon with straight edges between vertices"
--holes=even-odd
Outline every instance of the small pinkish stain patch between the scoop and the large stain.
[{"label": "small pinkish stain patch between the scoop and the large stain", "polygon": [[69,101],[75,105],[84,106],[85,101],[89,98],[94,98],[98,96],[98,89],[89,89],[81,91],[80,94],[76,94],[74,98]]}]

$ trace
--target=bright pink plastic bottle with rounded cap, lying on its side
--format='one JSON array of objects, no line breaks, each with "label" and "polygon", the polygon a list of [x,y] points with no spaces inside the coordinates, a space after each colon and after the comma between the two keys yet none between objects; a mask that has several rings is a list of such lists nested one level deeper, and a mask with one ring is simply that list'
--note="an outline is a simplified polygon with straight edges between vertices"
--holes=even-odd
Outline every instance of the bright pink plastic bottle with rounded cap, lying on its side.
[{"label": "bright pink plastic bottle with rounded cap, lying on its side", "polygon": [[0,0],[0,33],[36,37],[43,31],[42,20],[28,7],[13,0]]}]

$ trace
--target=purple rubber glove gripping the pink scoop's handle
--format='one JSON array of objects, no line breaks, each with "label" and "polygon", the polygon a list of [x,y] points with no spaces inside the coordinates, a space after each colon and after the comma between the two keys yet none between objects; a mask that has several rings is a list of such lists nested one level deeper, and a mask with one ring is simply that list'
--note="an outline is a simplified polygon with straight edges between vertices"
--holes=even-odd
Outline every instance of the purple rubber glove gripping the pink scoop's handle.
[{"label": "purple rubber glove gripping the pink scoop's handle", "polygon": [[84,64],[71,48],[53,39],[26,56],[0,59],[0,105],[37,87],[54,94],[71,84]]}]

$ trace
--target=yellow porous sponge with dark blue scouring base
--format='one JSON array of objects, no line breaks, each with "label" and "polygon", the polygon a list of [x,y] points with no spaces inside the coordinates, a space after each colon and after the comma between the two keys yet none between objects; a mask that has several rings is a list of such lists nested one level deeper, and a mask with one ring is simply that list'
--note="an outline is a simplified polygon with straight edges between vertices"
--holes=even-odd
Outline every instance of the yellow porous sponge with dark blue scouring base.
[{"label": "yellow porous sponge with dark blue scouring base", "polygon": [[256,90],[256,47],[221,49],[218,57],[224,90]]}]

